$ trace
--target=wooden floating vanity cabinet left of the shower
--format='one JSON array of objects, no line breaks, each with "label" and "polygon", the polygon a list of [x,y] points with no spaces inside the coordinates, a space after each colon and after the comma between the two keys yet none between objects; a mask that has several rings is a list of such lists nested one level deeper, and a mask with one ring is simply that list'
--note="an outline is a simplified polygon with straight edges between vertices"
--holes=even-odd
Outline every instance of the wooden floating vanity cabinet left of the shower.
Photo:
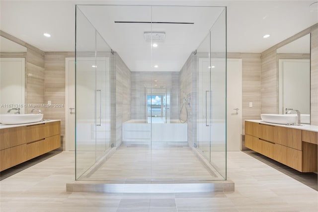
[{"label": "wooden floating vanity cabinet left of the shower", "polygon": [[0,129],[0,171],[61,147],[61,121]]}]

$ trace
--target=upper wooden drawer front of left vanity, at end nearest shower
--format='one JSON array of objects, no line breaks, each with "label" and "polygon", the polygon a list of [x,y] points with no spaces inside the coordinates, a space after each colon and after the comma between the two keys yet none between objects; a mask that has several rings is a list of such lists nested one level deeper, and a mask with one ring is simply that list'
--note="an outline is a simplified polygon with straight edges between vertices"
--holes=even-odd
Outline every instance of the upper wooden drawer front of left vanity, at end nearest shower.
[{"label": "upper wooden drawer front of left vanity, at end nearest shower", "polygon": [[26,142],[36,141],[61,133],[61,122],[54,121],[26,126]]}]

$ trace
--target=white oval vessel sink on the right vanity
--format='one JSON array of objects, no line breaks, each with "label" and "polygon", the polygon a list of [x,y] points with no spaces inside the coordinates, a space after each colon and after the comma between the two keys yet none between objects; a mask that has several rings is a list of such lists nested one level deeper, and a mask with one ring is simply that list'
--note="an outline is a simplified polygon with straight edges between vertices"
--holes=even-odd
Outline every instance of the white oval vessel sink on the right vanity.
[{"label": "white oval vessel sink on the right vanity", "polygon": [[277,124],[296,124],[297,114],[260,114],[263,121]]}]

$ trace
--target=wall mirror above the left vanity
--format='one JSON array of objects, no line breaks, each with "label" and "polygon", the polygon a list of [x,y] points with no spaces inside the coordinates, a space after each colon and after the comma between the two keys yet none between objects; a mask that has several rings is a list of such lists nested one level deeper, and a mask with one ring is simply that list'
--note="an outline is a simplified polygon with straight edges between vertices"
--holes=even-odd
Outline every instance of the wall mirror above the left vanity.
[{"label": "wall mirror above the left vanity", "polygon": [[[0,36],[0,113],[25,109],[26,47]],[[12,110],[11,110],[12,109]]]}]

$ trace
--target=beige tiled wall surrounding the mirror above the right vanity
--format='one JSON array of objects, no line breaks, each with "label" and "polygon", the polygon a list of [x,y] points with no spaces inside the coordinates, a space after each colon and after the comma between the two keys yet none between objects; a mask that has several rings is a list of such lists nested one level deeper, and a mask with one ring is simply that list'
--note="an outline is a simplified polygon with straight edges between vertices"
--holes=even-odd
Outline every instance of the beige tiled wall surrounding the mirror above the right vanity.
[{"label": "beige tiled wall surrounding the mirror above the right vanity", "polygon": [[261,53],[261,113],[278,113],[276,50],[311,33],[311,124],[318,125],[318,23]]}]

